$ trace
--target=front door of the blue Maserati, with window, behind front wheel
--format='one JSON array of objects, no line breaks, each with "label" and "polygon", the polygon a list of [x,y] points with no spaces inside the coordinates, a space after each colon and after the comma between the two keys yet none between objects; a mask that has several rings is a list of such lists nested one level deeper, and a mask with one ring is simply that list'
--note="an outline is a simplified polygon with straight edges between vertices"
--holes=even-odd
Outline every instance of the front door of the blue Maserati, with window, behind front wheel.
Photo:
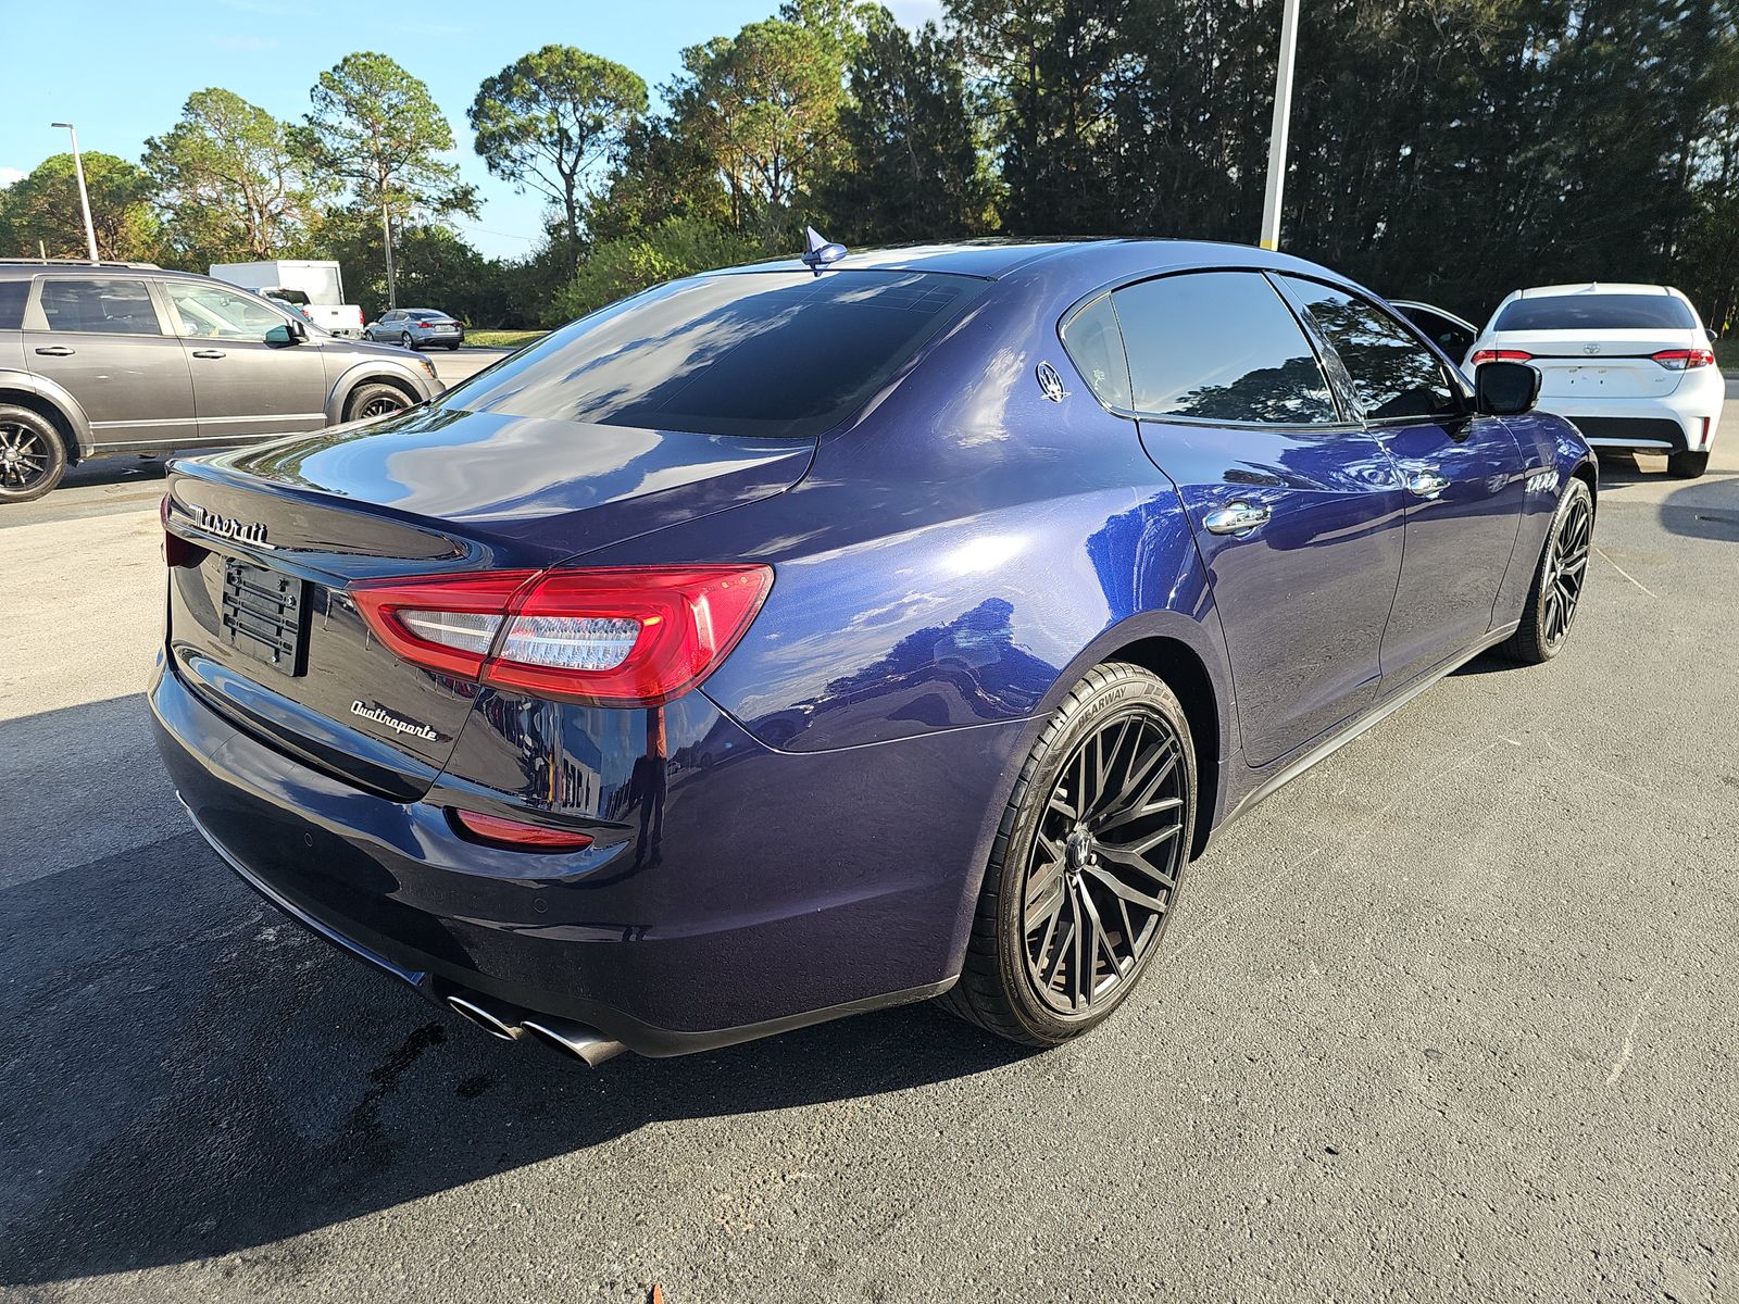
[{"label": "front door of the blue Maserati, with window, behind front wheel", "polygon": [[1522,447],[1386,308],[1337,285],[1276,280],[1330,346],[1330,370],[1407,485],[1407,560],[1383,635],[1388,692],[1492,628],[1522,523]]}]

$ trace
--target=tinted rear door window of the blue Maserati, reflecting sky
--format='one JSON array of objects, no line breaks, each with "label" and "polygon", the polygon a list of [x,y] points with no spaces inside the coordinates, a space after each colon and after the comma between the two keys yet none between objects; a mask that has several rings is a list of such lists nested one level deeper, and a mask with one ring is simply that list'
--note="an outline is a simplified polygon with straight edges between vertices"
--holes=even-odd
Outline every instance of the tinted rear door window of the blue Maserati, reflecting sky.
[{"label": "tinted rear door window of the blue Maserati, reflecting sky", "polygon": [[1137,410],[1264,426],[1339,419],[1304,330],[1259,273],[1163,276],[1111,299]]}]

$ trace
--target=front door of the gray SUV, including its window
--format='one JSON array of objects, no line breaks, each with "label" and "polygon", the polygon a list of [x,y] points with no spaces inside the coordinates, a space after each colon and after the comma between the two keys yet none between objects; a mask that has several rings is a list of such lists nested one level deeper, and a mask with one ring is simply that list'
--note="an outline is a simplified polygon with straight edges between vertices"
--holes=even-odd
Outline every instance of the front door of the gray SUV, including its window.
[{"label": "front door of the gray SUV, including its window", "polygon": [[320,337],[266,343],[266,332],[290,318],[247,290],[197,280],[162,287],[188,355],[202,440],[228,443],[327,424]]}]

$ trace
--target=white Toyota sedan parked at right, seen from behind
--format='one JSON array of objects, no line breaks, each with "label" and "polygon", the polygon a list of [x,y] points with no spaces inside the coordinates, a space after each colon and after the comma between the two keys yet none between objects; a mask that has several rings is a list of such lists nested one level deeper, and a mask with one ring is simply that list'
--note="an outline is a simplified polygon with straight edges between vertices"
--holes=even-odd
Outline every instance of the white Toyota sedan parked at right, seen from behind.
[{"label": "white Toyota sedan parked at right, seen from behind", "polygon": [[1715,336],[1669,285],[1539,285],[1497,304],[1469,362],[1529,362],[1541,403],[1596,449],[1666,454],[1696,480],[1709,466],[1727,383]]}]

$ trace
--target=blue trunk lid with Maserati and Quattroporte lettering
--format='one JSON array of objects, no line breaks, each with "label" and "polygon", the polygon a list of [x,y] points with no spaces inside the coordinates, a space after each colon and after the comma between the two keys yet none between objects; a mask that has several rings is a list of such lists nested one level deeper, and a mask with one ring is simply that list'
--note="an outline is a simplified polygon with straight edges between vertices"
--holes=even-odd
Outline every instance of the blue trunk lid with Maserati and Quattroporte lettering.
[{"label": "blue trunk lid with Maserati and Quattroporte lettering", "polygon": [[810,440],[409,412],[176,462],[169,655],[231,720],[414,800],[476,692],[372,635],[358,581],[537,570],[802,478]]}]

